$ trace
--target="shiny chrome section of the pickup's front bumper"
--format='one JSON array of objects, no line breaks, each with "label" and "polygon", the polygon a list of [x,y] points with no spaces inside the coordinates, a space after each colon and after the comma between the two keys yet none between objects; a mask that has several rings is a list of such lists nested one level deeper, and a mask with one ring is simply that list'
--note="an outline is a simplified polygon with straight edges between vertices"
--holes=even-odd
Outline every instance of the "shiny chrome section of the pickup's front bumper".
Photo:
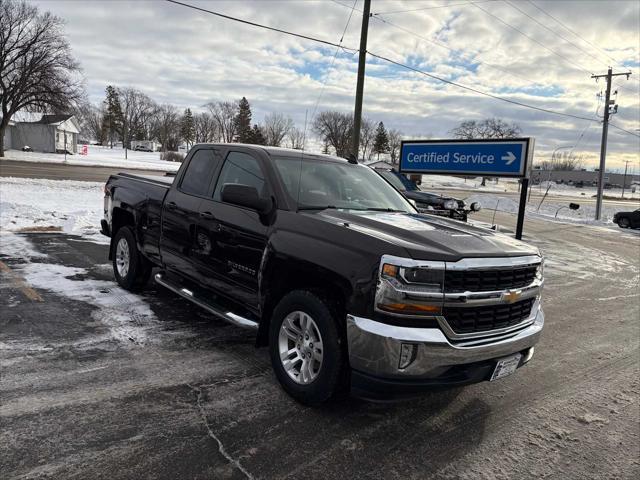
[{"label": "shiny chrome section of the pickup's front bumper", "polygon": [[[439,328],[397,327],[347,315],[349,361],[354,370],[381,378],[436,378],[456,365],[499,358],[533,347],[544,325],[539,300],[532,313],[533,323],[520,330],[453,343]],[[415,346],[413,361],[403,369],[399,368],[402,344]]]}]

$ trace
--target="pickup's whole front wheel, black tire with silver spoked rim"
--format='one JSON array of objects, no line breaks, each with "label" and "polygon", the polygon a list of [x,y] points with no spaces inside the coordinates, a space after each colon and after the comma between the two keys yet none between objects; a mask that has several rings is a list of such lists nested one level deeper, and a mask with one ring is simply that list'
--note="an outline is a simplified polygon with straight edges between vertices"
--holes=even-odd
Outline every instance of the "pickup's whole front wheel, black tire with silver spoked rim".
[{"label": "pickup's whole front wheel, black tire with silver spoked rim", "polygon": [[282,388],[296,400],[319,404],[341,390],[344,348],[330,300],[297,290],[276,306],[269,331],[271,364]]}]

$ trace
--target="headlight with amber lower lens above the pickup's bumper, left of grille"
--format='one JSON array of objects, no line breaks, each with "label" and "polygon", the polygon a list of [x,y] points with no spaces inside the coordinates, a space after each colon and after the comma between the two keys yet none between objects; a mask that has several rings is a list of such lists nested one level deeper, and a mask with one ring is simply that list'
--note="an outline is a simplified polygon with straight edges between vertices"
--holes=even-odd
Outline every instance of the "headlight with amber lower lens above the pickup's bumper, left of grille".
[{"label": "headlight with amber lower lens above the pickup's bumper, left of grille", "polygon": [[393,315],[433,316],[442,312],[444,263],[383,256],[375,308]]}]

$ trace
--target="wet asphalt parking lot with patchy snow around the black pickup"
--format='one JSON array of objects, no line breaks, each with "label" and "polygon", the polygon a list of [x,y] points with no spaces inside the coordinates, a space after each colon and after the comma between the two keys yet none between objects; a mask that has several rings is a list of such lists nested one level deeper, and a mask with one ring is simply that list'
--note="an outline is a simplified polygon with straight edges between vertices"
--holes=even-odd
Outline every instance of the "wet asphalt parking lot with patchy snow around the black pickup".
[{"label": "wet asphalt parking lot with patchy snow around the black pickup", "polygon": [[106,245],[2,234],[0,477],[638,478],[640,236],[526,233],[547,258],[529,365],[315,409],[279,388],[251,332],[153,284],[119,289]]}]

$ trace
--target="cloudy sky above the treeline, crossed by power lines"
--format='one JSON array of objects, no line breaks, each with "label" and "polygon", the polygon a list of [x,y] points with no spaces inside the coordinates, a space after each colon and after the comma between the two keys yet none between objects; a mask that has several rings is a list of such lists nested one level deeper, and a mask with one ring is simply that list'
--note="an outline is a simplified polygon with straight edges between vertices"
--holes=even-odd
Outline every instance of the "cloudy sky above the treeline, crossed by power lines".
[{"label": "cloudy sky above the treeline, crossed by power lines", "polygon": [[[354,0],[248,0],[185,3],[339,42]],[[109,85],[133,86],[181,108],[246,96],[254,121],[352,111],[357,55],[242,25],[163,1],[40,0],[66,32],[100,102]],[[357,48],[363,0],[342,45]],[[536,138],[536,159],[575,146],[588,167],[599,156],[604,82],[617,77],[616,125],[640,135],[640,2],[373,0],[368,50],[441,78],[578,120],[497,101],[369,58],[364,115],[410,137],[450,137],[463,120],[499,117]],[[335,57],[335,59],[334,59]],[[568,150],[568,149],[566,149]],[[608,167],[640,173],[640,138],[609,131]]]}]

